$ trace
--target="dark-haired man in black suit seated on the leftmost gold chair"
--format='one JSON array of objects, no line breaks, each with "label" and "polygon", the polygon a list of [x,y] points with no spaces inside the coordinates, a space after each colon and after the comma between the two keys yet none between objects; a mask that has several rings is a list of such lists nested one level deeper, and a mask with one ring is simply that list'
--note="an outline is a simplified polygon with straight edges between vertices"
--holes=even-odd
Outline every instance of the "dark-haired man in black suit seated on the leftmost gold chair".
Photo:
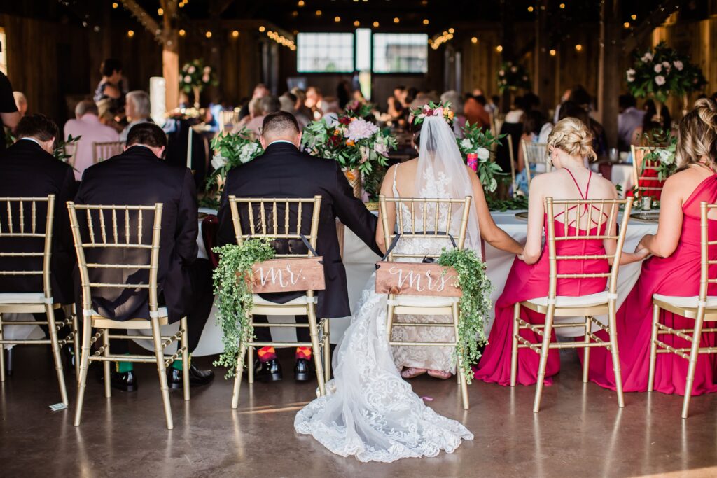
[{"label": "dark-haired man in black suit seated on the leftmost gold chair", "polygon": [[[0,196],[45,197],[54,194],[54,221],[52,232],[52,256],[50,263],[50,286],[55,303],[72,304],[72,267],[75,264],[75,247],[72,244],[70,218],[66,201],[75,196],[75,176],[72,167],[52,156],[57,138],[57,125],[44,115],[27,115],[16,128],[18,140],[0,152]],[[26,212],[29,212],[27,206]],[[42,206],[40,206],[42,208]],[[38,224],[43,224],[46,209],[37,211]],[[30,218],[26,218],[26,228]],[[6,227],[3,226],[6,231]],[[32,239],[5,238],[0,242],[3,252],[42,251],[42,242]],[[0,270],[42,269],[42,262],[32,258],[0,258]],[[0,275],[0,292],[42,292],[42,276]],[[34,314],[36,320],[44,321],[44,313]],[[56,320],[64,320],[62,309],[55,312]],[[47,334],[47,327],[42,327]]]}]

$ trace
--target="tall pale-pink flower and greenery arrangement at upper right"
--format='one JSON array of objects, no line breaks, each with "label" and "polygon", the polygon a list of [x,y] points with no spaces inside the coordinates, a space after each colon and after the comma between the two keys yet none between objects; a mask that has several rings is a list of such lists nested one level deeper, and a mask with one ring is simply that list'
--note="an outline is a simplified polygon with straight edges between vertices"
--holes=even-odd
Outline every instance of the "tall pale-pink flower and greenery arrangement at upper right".
[{"label": "tall pale-pink flower and greenery arrangement at upper right", "polygon": [[700,68],[690,58],[660,42],[654,49],[635,54],[635,63],[625,72],[630,93],[637,98],[655,100],[657,116],[662,103],[670,95],[677,95],[687,102],[690,92],[700,90],[706,80]]}]

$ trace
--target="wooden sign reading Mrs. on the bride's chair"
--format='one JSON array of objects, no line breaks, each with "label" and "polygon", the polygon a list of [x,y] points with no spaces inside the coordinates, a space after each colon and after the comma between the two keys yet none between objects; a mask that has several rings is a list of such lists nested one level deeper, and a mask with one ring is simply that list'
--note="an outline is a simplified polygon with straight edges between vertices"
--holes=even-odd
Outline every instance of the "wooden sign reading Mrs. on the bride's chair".
[{"label": "wooden sign reading Mrs. on the bride's chair", "polygon": [[376,294],[460,297],[452,267],[422,262],[376,262]]}]

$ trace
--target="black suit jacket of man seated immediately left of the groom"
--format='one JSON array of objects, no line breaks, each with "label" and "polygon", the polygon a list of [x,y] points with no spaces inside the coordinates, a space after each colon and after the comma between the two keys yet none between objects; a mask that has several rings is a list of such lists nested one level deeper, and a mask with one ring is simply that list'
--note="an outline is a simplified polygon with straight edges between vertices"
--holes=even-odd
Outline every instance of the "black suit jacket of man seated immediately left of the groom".
[{"label": "black suit jacket of man seated immediately left of the groom", "polygon": [[[162,230],[159,247],[158,286],[164,295],[170,322],[186,315],[193,300],[186,267],[196,259],[196,188],[191,171],[171,166],[144,146],[132,146],[124,153],[85,170],[77,204],[130,204],[153,206],[162,203]],[[121,212],[118,222],[123,221]],[[80,222],[82,218],[78,217]],[[143,242],[151,240],[153,217],[145,213]],[[108,221],[107,224],[111,224]],[[123,223],[122,223],[123,224]],[[136,223],[133,230],[136,231]],[[120,226],[120,242],[123,239]],[[95,235],[99,234],[95,219]],[[136,232],[135,232],[136,234]],[[132,236],[130,239],[136,239]],[[148,263],[148,250],[87,249],[87,262],[105,264]],[[147,269],[95,269],[90,280],[101,282],[148,283]],[[96,294],[96,295],[95,295]],[[93,292],[92,306],[115,320],[148,318],[148,290],[103,288]]]}]

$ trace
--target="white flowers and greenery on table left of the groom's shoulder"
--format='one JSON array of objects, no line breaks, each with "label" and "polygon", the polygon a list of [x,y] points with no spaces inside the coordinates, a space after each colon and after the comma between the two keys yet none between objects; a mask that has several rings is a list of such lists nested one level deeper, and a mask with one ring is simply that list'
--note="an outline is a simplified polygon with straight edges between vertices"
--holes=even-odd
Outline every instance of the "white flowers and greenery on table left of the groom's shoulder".
[{"label": "white flowers and greenery on table left of the groom's shoulder", "polygon": [[210,194],[209,199],[203,201],[205,206],[217,206],[218,201],[215,196],[222,195],[224,188],[224,180],[227,174],[237,166],[252,161],[252,159],[264,153],[261,143],[252,138],[250,130],[243,128],[239,133],[220,134],[212,140],[212,167],[214,171],[209,174],[204,183],[204,187]]}]

